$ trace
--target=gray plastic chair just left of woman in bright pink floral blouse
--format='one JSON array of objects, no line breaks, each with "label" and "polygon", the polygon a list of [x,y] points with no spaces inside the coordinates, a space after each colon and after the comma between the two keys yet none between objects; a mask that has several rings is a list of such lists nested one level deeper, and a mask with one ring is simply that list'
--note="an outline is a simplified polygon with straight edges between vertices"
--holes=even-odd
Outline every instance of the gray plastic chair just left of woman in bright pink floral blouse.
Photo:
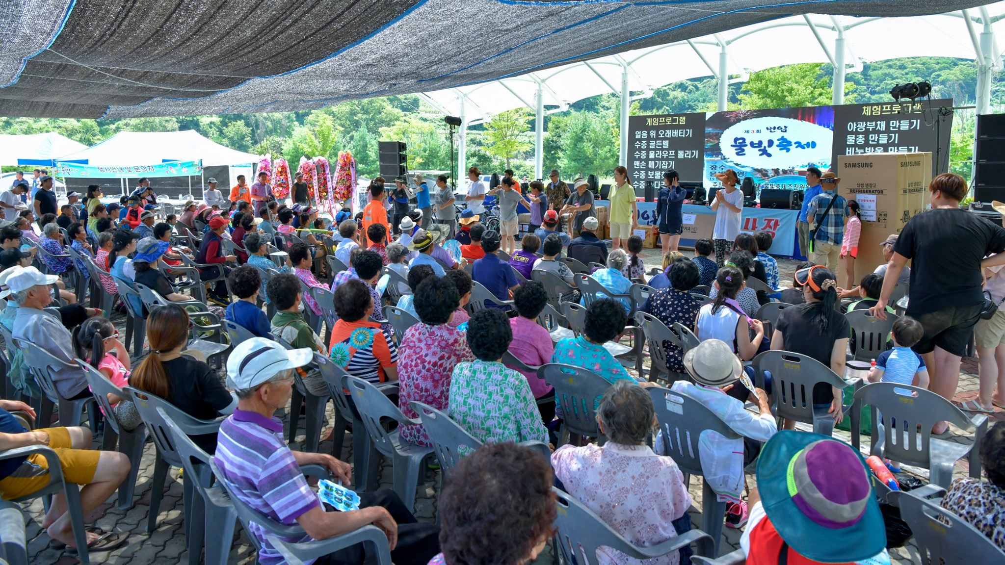
[{"label": "gray plastic chair just left of woman in bright pink floral blouse", "polygon": [[413,445],[398,437],[398,430],[388,431],[381,424],[382,418],[391,418],[402,424],[419,424],[401,413],[401,410],[384,393],[370,382],[346,376],[342,386],[349,389],[353,401],[360,412],[360,419],[366,427],[374,447],[389,456],[394,465],[394,492],[401,497],[405,507],[411,512],[415,506],[415,493],[422,477],[422,461],[433,454],[432,447]]}]

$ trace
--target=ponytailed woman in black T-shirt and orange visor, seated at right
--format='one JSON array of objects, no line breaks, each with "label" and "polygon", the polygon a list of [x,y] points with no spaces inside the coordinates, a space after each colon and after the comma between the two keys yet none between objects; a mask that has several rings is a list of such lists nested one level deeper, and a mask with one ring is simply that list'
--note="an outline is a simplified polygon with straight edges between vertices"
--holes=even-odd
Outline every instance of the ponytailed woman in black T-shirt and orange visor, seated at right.
[{"label": "ponytailed woman in black T-shirt and orange visor, seated at right", "polygon": [[[847,319],[834,310],[837,276],[827,267],[816,264],[797,270],[795,278],[803,288],[806,304],[782,311],[771,349],[812,357],[843,378],[850,327]],[[844,418],[842,394],[840,388],[817,385],[813,388],[813,407],[829,406],[834,423],[840,423]],[[793,429],[794,422],[786,421],[785,427]]]}]

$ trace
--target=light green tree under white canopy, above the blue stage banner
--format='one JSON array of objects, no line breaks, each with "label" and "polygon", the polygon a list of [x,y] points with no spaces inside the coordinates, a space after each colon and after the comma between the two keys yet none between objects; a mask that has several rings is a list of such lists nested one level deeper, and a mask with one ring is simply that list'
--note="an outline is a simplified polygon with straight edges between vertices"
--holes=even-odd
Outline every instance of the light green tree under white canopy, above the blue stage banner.
[{"label": "light green tree under white canopy, above the blue stage banner", "polygon": [[[740,105],[744,110],[828,106],[833,97],[831,78],[822,66],[808,62],[752,72],[740,92]],[[852,87],[853,83],[845,81],[845,92]]]}]

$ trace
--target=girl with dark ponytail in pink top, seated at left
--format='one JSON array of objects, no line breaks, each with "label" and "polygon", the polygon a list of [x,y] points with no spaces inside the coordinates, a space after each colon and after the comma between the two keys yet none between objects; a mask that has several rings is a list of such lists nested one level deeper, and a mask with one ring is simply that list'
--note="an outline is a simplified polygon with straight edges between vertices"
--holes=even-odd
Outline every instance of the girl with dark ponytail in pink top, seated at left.
[{"label": "girl with dark ponytail in pink top, seated at left", "polygon": [[[97,369],[119,388],[130,386],[129,349],[119,341],[119,331],[108,318],[86,319],[73,330],[73,350],[76,356]],[[109,394],[109,402],[119,423],[133,431],[143,420],[132,400]]]}]

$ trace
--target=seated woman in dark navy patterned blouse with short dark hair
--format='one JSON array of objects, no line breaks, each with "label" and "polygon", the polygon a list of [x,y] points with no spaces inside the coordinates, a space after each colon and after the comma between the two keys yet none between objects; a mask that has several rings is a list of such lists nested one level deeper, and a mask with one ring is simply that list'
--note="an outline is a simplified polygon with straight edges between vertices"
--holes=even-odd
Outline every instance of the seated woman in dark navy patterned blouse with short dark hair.
[{"label": "seated woman in dark navy patterned blouse with short dark hair", "polygon": [[[701,303],[690,296],[690,290],[701,280],[701,273],[697,265],[686,257],[675,261],[666,272],[670,287],[650,294],[639,311],[655,316],[667,328],[672,328],[674,323],[679,322],[693,332],[694,320]],[[663,340],[663,350],[666,352],[667,370],[683,373],[683,352],[680,348],[669,340]]]}]

